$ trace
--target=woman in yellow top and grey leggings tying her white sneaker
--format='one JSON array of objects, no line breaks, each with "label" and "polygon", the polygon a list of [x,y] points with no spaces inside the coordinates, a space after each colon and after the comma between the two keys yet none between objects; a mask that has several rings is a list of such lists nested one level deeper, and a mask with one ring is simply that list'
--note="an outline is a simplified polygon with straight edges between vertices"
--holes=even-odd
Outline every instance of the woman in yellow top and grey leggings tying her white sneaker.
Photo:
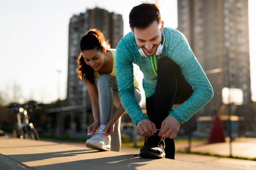
[{"label": "woman in yellow top and grey leggings tying her white sneaker", "polygon": [[[87,85],[94,118],[93,124],[87,128],[87,132],[93,137],[86,141],[86,146],[96,150],[120,152],[120,117],[125,109],[121,105],[116,83],[116,50],[110,49],[100,30],[90,29],[81,38],[80,51],[78,77]],[[135,77],[134,87],[136,99],[140,101],[140,91]],[[113,110],[115,112],[112,114]]]}]

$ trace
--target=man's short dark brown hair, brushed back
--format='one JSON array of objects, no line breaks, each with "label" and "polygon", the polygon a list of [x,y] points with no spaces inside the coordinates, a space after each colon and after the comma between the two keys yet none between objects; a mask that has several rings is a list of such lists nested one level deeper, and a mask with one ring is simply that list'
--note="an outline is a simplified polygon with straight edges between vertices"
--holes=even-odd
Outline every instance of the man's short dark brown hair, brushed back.
[{"label": "man's short dark brown hair, brushed back", "polygon": [[161,23],[161,14],[157,3],[143,2],[134,6],[129,14],[129,24],[132,29],[145,29],[154,21],[157,21],[158,24]]}]

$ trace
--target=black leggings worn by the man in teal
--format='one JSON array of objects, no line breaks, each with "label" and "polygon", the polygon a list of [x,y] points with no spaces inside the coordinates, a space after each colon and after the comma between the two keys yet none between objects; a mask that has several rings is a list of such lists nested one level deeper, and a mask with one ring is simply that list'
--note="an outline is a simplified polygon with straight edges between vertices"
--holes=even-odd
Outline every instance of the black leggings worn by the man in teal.
[{"label": "black leggings worn by the man in teal", "polygon": [[[169,57],[159,59],[157,68],[155,93],[146,98],[146,110],[148,118],[154,122],[157,129],[160,129],[163,120],[169,116],[172,106],[185,102],[194,90],[184,79],[179,66]],[[166,138],[165,143],[166,158],[174,159],[174,139]]]}]

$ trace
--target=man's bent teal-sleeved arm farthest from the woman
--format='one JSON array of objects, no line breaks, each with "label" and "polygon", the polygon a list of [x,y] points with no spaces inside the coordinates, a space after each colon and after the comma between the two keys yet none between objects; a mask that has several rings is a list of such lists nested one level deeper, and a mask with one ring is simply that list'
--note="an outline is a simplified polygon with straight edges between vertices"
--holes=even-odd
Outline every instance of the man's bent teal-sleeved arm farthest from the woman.
[{"label": "man's bent teal-sleeved arm farthest from the woman", "polygon": [[194,90],[194,93],[186,102],[179,108],[172,109],[169,113],[178,122],[183,123],[188,121],[212,99],[212,85],[195,58],[185,37],[176,45],[174,51],[168,51],[168,56],[172,57],[173,61],[180,67],[184,78]]}]

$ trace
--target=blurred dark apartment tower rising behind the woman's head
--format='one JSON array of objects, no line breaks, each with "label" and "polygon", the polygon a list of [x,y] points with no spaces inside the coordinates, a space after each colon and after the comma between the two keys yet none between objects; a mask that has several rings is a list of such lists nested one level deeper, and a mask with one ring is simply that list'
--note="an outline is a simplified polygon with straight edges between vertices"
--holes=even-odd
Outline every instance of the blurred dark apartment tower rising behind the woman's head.
[{"label": "blurred dark apartment tower rising behind the woman's head", "polygon": [[85,13],[74,15],[69,25],[67,101],[69,105],[82,105],[89,102],[86,85],[77,78],[77,59],[80,54],[79,42],[90,28],[100,29],[111,48],[116,48],[123,37],[122,15],[101,8],[88,9]]}]

